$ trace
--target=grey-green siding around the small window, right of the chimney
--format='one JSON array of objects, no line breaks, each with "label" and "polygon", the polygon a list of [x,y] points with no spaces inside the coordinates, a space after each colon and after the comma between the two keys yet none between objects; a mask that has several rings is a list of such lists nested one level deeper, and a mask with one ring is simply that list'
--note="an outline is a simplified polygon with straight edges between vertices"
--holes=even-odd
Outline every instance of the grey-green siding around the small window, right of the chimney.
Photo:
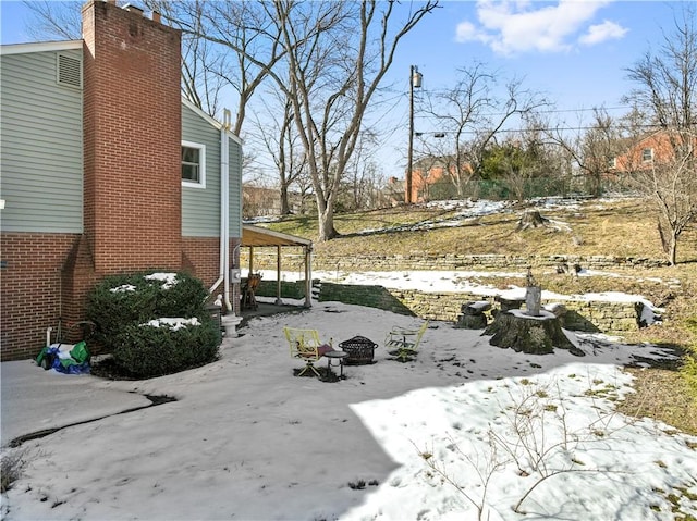
[{"label": "grey-green siding around the small window, right of the chimney", "polygon": [[[206,188],[182,186],[182,235],[220,236],[220,129],[182,104],[182,140],[206,146]],[[242,147],[230,139],[230,236],[242,236]]]}]

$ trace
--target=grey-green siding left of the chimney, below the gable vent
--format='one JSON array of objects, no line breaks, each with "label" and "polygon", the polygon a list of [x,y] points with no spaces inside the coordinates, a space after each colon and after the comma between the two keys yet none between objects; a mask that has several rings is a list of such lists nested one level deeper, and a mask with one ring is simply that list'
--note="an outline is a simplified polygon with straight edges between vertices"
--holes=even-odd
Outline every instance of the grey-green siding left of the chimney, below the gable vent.
[{"label": "grey-green siding left of the chimney, below the gable vent", "polygon": [[83,231],[83,96],[57,84],[57,54],[0,57],[3,232]]}]

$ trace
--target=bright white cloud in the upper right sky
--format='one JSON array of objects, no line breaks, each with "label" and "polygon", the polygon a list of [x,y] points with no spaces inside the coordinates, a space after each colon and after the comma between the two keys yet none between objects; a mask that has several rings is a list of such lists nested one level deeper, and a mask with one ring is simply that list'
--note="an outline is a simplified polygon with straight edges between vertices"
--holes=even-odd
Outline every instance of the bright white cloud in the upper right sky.
[{"label": "bright white cloud in the upper right sky", "polygon": [[[479,41],[504,55],[523,52],[563,52],[573,47],[576,35],[586,29],[598,10],[610,3],[602,1],[560,0],[537,3],[513,0],[479,0],[477,21],[462,22],[456,40]],[[604,22],[586,29],[579,39],[595,45],[608,38],[621,38],[626,29],[613,22]]]}]

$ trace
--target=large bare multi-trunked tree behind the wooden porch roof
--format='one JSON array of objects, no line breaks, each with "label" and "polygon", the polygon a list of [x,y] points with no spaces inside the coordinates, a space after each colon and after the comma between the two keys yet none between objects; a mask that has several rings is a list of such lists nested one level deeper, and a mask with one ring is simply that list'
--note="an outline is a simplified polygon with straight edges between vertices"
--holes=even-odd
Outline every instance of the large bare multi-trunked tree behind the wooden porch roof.
[{"label": "large bare multi-trunked tree behind the wooden porch roof", "polygon": [[[438,5],[427,0],[394,22],[395,2],[262,4],[277,23],[286,77],[271,71],[293,104],[319,218],[318,240],[335,237],[334,207],[363,121],[400,40]],[[399,10],[403,12],[403,10]]]}]

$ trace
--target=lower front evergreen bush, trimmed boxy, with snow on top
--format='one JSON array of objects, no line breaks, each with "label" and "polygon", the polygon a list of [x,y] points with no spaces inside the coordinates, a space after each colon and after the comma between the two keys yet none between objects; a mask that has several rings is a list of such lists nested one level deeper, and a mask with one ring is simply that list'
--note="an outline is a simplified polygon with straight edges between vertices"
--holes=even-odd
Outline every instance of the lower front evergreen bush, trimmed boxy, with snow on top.
[{"label": "lower front evergreen bush, trimmed boxy, with snow on top", "polygon": [[193,320],[198,325],[125,326],[114,337],[114,362],[136,377],[161,376],[212,362],[220,345],[218,322],[209,317]]}]

